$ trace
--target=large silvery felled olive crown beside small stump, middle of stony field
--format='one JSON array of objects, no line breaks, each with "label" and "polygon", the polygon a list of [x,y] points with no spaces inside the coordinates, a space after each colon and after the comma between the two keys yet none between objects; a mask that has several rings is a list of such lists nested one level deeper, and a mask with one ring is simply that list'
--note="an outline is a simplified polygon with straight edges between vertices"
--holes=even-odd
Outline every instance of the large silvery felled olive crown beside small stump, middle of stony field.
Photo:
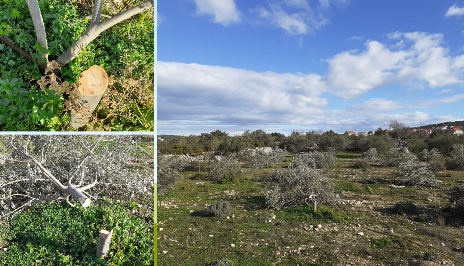
[{"label": "large silvery felled olive crown beside small stump, middle of stony field", "polygon": [[335,184],[319,170],[305,165],[286,172],[274,171],[266,181],[262,194],[266,204],[277,210],[290,206],[309,206],[314,201],[336,204],[340,200],[338,194],[335,194]]}]

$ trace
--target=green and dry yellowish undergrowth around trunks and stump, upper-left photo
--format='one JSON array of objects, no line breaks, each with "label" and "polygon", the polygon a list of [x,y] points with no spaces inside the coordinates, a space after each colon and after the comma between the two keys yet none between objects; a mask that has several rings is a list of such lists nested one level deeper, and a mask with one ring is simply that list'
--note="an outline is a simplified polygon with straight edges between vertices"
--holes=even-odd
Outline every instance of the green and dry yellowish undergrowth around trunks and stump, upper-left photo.
[{"label": "green and dry yellowish undergrowth around trunks and stump, upper-left photo", "polygon": [[[141,3],[107,2],[103,14],[113,16]],[[92,1],[39,1],[48,39],[49,60],[66,51],[90,25],[80,19],[92,13]],[[0,1],[0,35],[39,57],[40,48],[26,1]],[[76,83],[82,71],[100,65],[110,76],[109,87],[93,112],[86,131],[154,130],[153,9],[126,19],[101,33],[68,65],[61,81]],[[0,130],[70,131],[66,95],[37,81],[39,68],[0,41]]]}]

